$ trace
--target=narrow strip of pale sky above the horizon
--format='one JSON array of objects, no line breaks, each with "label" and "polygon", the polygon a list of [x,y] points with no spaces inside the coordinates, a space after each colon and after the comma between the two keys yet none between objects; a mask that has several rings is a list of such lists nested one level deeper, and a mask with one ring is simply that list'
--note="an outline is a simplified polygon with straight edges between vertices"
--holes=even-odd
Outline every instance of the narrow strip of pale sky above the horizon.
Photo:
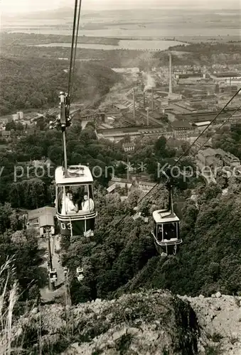
[{"label": "narrow strip of pale sky above the horizon", "polygon": [[[1,13],[29,13],[74,6],[74,0],[0,0]],[[82,10],[134,9],[161,6],[190,6],[213,9],[240,9],[241,0],[82,0]]]}]

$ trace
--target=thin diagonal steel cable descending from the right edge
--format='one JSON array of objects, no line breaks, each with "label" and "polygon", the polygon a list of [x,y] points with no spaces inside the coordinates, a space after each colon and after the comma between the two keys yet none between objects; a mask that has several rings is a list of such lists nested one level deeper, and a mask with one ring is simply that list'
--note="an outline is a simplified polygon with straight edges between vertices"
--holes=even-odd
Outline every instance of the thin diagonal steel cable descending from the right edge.
[{"label": "thin diagonal steel cable descending from the right edge", "polygon": [[[230,102],[232,102],[232,100],[237,96],[237,94],[239,94],[241,92],[241,87],[240,89],[237,90],[237,92],[235,92],[235,94],[231,97],[231,99],[227,102],[227,104],[225,104],[225,106],[223,107],[223,109],[221,109],[218,114],[215,116],[215,118],[210,122],[210,124],[208,124],[208,126],[203,130],[203,132],[201,132],[199,134],[199,136],[196,138],[196,140],[191,144],[191,146],[189,146],[186,151],[178,158],[178,160],[176,160],[176,162],[171,166],[175,166],[180,160],[181,158],[183,158],[183,156],[186,155],[186,153],[188,153],[188,151],[191,149],[191,147],[196,143],[196,141],[198,141],[198,139],[200,138],[200,136],[202,136],[202,134],[213,124],[213,122],[218,118],[218,116],[220,116],[220,114],[222,114],[222,112],[227,108],[227,106],[230,104]],[[238,111],[235,110],[235,112],[232,113],[232,115],[230,117],[228,117],[228,119],[230,119],[233,114],[235,114]],[[200,148],[198,148],[198,151],[200,150]],[[196,153],[198,153],[198,151]],[[156,182],[156,185],[154,185],[154,187],[151,188],[151,190],[149,192],[146,193],[146,195],[144,195],[143,197],[141,197],[141,200],[139,200],[139,202],[137,202],[136,207],[151,193],[153,192],[153,190],[159,185],[159,182]],[[114,224],[114,226],[112,227],[112,229],[110,229],[107,233],[109,234],[113,229],[115,229],[116,226],[118,226],[118,224],[120,224],[121,222],[124,221],[124,219],[126,217],[129,216],[129,213],[125,214],[124,217],[122,217],[122,219],[120,219],[116,224]]]}]

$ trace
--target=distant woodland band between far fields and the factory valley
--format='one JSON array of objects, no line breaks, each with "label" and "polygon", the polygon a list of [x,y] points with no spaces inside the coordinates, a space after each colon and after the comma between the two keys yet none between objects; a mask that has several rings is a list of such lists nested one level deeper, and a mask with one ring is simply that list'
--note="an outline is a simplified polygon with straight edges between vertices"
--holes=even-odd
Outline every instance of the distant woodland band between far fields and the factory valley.
[{"label": "distant woodland band between far fields and the factory valley", "polygon": [[[58,37],[58,36],[57,36]],[[70,48],[60,47],[33,47],[34,38],[39,43],[49,43],[51,35],[5,33],[4,43],[1,48],[3,55],[11,57],[28,58],[69,58]],[[55,36],[53,36],[55,38]],[[53,42],[68,42],[68,36],[59,36]],[[83,39],[85,38],[85,39]],[[88,38],[80,37],[80,41],[86,43],[117,44],[116,38]],[[61,39],[61,40],[60,40]],[[114,40],[114,43],[109,43]],[[103,42],[104,41],[104,42]],[[21,43],[24,43],[21,45]],[[30,45],[29,45],[30,44]],[[173,63],[175,65],[213,65],[223,62],[232,65],[240,64],[240,43],[191,43],[190,45],[178,45],[171,47],[173,51]],[[179,54],[179,53],[180,54]],[[183,54],[182,54],[183,53]],[[184,55],[185,53],[185,55]],[[77,60],[91,60],[102,63],[106,67],[157,67],[168,65],[168,51],[146,53],[140,50],[97,50],[90,48],[77,48]]]}]

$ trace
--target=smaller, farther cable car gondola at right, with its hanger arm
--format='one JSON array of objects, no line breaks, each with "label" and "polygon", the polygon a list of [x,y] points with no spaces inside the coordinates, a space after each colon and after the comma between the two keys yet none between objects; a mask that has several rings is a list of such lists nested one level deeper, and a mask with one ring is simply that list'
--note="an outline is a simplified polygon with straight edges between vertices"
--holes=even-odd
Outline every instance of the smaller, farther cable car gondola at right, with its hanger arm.
[{"label": "smaller, farther cable car gondola at right, with its hanger arm", "polygon": [[181,244],[183,241],[180,239],[179,234],[180,219],[173,212],[171,186],[168,186],[168,190],[168,209],[159,209],[153,212],[154,230],[151,231],[151,234],[154,236],[156,249],[159,253],[164,249],[167,255],[171,252],[175,255],[178,244]]}]

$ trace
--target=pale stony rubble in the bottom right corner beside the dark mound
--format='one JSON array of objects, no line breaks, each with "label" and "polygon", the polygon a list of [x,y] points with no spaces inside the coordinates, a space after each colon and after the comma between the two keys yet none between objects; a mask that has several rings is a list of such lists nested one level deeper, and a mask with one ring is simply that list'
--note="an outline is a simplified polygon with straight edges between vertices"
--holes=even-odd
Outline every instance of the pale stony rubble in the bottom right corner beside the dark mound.
[{"label": "pale stony rubble in the bottom right corner beside the dark mound", "polygon": [[199,353],[241,354],[241,297],[180,297],[188,300],[196,313],[200,327]]}]

